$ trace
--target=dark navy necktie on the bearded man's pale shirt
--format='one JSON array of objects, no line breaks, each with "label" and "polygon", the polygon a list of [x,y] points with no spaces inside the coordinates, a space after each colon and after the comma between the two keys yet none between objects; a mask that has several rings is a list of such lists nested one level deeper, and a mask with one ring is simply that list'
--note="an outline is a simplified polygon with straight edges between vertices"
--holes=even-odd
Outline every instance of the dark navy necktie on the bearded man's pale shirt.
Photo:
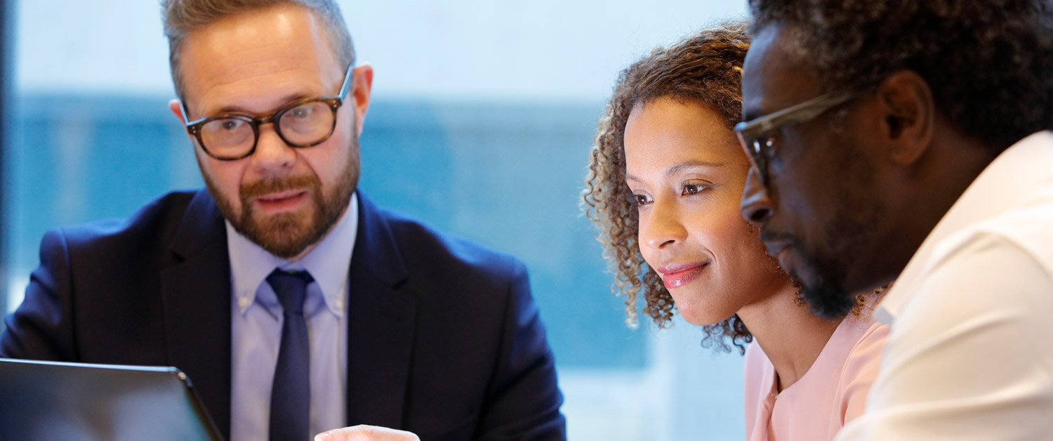
[{"label": "dark navy necktie on the bearded man's pale shirt", "polygon": [[284,309],[271,389],[271,441],[311,439],[311,346],[303,299],[313,280],[306,272],[281,269],[266,278]]}]

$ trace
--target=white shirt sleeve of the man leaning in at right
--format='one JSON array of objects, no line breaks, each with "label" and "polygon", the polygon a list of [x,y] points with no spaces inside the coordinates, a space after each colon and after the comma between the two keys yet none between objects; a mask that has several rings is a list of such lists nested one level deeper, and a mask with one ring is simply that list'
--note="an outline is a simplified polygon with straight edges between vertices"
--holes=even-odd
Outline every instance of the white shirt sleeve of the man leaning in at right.
[{"label": "white shirt sleeve of the man leaning in at right", "polygon": [[892,324],[867,412],[837,441],[1010,441],[1053,434],[1053,282],[980,234],[935,263]]}]

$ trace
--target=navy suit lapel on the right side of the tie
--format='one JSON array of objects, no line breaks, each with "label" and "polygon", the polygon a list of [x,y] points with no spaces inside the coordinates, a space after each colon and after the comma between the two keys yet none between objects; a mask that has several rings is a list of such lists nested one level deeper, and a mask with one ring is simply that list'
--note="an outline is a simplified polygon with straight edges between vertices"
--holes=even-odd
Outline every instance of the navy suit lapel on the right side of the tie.
[{"label": "navy suit lapel on the right side of the tie", "polygon": [[402,427],[417,299],[386,218],[358,194],[358,234],[347,305],[347,421]]}]

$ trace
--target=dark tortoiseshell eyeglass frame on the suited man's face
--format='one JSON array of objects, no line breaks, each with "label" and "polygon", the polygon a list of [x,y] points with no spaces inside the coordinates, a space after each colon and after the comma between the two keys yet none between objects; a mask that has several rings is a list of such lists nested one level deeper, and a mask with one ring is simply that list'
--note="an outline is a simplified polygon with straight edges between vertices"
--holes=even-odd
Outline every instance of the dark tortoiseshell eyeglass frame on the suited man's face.
[{"label": "dark tortoiseshell eyeglass frame on the suited man's face", "polygon": [[[340,108],[341,105],[343,105],[343,100],[347,97],[347,93],[351,91],[354,77],[355,77],[355,65],[352,64],[352,65],[347,66],[347,72],[343,75],[343,83],[340,84],[340,92],[338,92],[336,96],[304,98],[302,100],[298,100],[298,101],[294,101],[292,103],[289,103],[289,104],[282,106],[281,108],[279,108],[278,112],[275,112],[274,114],[271,114],[269,116],[263,116],[263,117],[246,117],[246,116],[243,116],[243,115],[223,114],[223,115],[214,115],[214,116],[211,116],[211,117],[204,117],[204,118],[201,118],[201,119],[198,119],[198,120],[194,120],[194,121],[187,121],[186,120],[186,115],[187,115],[187,113],[186,113],[186,104],[180,102],[179,105],[182,106],[182,111],[183,111],[183,125],[186,126],[186,132],[188,134],[194,135],[194,137],[198,141],[198,145],[201,146],[201,149],[204,151],[205,155],[208,155],[210,157],[215,158],[215,159],[220,160],[220,161],[237,161],[239,159],[247,158],[247,157],[252,156],[254,153],[256,153],[256,145],[259,144],[259,140],[260,140],[260,125],[261,124],[274,123],[274,122],[278,121],[281,118],[282,115],[285,115],[286,112],[292,111],[292,109],[294,109],[296,107],[299,107],[299,106],[301,106],[303,104],[307,104],[307,103],[312,103],[312,102],[322,102],[322,103],[325,103],[329,106],[330,111],[333,112],[333,125],[330,127],[329,134],[326,134],[324,137],[322,137],[322,139],[320,139],[318,141],[310,142],[310,143],[295,143],[295,142],[290,142],[287,139],[285,139],[285,136],[282,135],[282,133],[281,133],[281,126],[279,124],[274,124],[274,132],[278,134],[278,137],[281,138],[282,142],[284,142],[285,144],[287,144],[291,147],[301,148],[301,147],[310,147],[310,146],[313,146],[313,145],[318,145],[318,144],[321,144],[321,143],[325,142],[325,140],[330,139],[330,137],[333,136],[333,132],[336,131],[337,111]],[[207,123],[210,123],[212,121],[219,120],[219,119],[236,119],[236,120],[241,120],[241,121],[244,121],[244,122],[249,123],[249,125],[253,127],[253,137],[254,138],[253,138],[253,146],[252,146],[252,148],[250,148],[249,152],[246,152],[244,155],[241,155],[241,156],[238,156],[238,157],[221,157],[221,156],[216,156],[216,154],[214,154],[212,152],[208,152],[208,147],[206,147],[204,145],[204,140],[201,139],[201,127],[204,126],[204,124],[207,124]]]}]

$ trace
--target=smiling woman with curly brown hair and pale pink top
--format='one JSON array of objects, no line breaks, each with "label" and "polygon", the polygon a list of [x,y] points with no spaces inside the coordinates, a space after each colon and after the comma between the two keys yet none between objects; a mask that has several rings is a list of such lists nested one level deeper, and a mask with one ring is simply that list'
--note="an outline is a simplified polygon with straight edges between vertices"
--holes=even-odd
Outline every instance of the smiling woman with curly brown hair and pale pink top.
[{"label": "smiling woman with curly brown hair and pale pink top", "polygon": [[703,346],[746,353],[748,439],[829,440],[862,413],[888,327],[867,314],[875,295],[847,318],[810,314],[739,214],[744,27],[722,23],[621,72],[591,151],[585,214],[630,324],[642,297],[659,327],[679,312],[702,326]]}]

